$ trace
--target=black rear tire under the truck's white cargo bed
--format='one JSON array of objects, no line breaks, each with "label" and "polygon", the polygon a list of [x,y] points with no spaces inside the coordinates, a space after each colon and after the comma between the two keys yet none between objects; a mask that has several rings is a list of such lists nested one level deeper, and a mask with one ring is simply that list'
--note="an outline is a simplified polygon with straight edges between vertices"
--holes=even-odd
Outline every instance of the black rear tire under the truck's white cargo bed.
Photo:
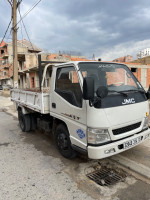
[{"label": "black rear tire under the truck's white cargo bed", "polygon": [[31,117],[29,114],[23,114],[22,110],[18,110],[19,125],[23,132],[28,132],[31,130]]}]

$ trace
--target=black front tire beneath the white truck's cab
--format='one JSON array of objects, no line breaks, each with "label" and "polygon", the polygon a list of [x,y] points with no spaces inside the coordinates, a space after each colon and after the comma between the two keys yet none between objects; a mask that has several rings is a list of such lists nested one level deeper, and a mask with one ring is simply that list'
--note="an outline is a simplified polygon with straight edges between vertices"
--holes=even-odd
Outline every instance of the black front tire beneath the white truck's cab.
[{"label": "black front tire beneath the white truck's cab", "polygon": [[57,148],[65,158],[75,158],[76,152],[71,147],[69,132],[65,125],[59,124],[55,131],[55,141]]}]

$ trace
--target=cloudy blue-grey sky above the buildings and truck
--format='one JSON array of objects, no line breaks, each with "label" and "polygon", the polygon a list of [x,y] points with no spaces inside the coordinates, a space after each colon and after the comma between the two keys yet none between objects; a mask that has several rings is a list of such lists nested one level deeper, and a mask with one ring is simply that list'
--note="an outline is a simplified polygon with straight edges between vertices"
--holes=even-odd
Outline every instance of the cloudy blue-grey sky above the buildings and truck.
[{"label": "cloudy blue-grey sky above the buildings and truck", "polygon": [[[22,0],[21,15],[35,2]],[[8,0],[0,0],[0,41],[10,19]],[[31,42],[45,52],[80,52],[111,61],[126,55],[136,59],[150,48],[150,0],[41,0],[23,21]],[[4,41],[11,38],[9,30]],[[22,38],[28,39],[19,23]]]}]

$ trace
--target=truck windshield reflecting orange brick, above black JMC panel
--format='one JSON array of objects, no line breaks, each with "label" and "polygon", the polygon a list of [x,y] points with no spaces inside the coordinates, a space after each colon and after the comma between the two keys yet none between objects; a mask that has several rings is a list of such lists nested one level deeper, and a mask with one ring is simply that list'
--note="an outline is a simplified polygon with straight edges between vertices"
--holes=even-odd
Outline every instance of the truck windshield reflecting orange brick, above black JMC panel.
[{"label": "truck windshield reflecting orange brick, above black JMC panel", "polygon": [[99,86],[106,86],[109,92],[143,90],[129,68],[122,64],[79,63],[79,69],[83,77],[90,76],[94,78],[95,92]]}]

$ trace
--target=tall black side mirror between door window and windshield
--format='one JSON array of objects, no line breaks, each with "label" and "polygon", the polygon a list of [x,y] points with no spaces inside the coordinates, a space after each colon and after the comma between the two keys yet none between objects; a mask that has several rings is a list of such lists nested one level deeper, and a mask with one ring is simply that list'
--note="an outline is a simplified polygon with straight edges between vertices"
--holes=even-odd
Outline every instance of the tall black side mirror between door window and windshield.
[{"label": "tall black side mirror between door window and windshield", "polygon": [[94,79],[85,77],[83,80],[83,99],[92,100],[94,98]]}]

